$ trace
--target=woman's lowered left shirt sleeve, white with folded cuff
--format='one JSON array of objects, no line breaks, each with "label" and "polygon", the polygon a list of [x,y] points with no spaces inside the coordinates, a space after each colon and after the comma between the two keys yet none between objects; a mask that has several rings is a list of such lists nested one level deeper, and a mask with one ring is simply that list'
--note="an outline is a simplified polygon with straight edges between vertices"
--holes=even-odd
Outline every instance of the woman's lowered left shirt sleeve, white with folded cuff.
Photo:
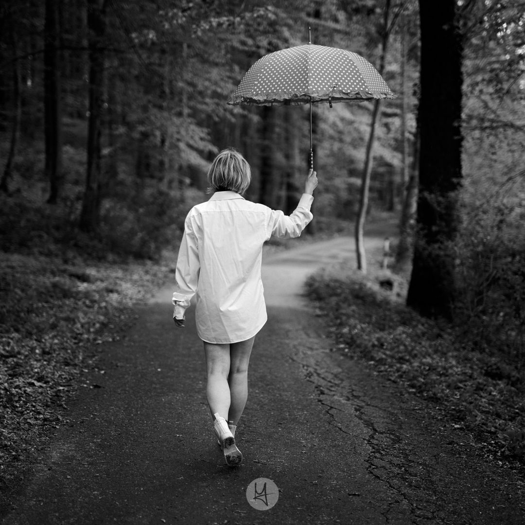
[{"label": "woman's lowered left shirt sleeve, white with folded cuff", "polygon": [[190,306],[190,301],[197,291],[197,283],[201,264],[198,256],[198,246],[193,232],[191,218],[188,215],[184,223],[184,235],[178,249],[177,267],[175,270],[175,291],[172,303],[173,317],[184,318],[184,311]]}]

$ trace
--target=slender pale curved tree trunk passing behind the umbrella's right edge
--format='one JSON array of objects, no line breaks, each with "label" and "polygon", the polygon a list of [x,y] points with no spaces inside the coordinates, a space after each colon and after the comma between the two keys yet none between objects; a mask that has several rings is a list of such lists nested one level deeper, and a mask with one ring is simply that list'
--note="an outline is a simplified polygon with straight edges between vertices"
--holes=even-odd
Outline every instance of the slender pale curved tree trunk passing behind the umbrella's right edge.
[{"label": "slender pale curved tree trunk passing behind the umbrella's right edge", "polygon": [[[379,61],[379,74],[383,75],[385,70],[386,51],[388,47],[388,15],[390,13],[390,0],[386,0],[383,18],[383,39],[381,43],[381,58]],[[357,256],[358,270],[366,273],[366,254],[364,251],[363,227],[368,208],[368,199],[370,192],[370,176],[372,173],[372,162],[374,159],[374,143],[377,125],[380,121],[381,100],[374,101],[374,110],[372,112],[372,123],[370,124],[370,134],[366,144],[366,158],[364,163],[363,174],[361,177],[361,192],[359,199],[359,211],[355,221],[355,253]]]}]

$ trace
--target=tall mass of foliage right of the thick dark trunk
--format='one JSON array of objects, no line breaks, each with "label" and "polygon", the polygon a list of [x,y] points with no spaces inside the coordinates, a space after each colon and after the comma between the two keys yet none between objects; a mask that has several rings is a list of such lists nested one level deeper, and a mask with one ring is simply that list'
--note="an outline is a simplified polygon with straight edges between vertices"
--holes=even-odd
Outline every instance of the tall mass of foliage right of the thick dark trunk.
[{"label": "tall mass of foliage right of the thick dark trunk", "polygon": [[479,351],[523,366],[523,6],[490,0],[468,22],[455,320]]}]

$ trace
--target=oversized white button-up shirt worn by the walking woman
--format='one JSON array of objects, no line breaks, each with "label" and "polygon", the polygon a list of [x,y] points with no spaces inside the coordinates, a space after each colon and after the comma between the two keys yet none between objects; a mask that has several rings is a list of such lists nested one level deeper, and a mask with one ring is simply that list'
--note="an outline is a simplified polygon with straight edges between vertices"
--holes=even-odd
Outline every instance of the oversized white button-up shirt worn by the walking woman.
[{"label": "oversized white button-up shirt worn by the walking woman", "polygon": [[262,244],[272,235],[299,237],[312,220],[312,201],[303,194],[290,216],[232,191],[216,192],[194,206],[178,251],[174,317],[183,318],[196,293],[197,333],[203,341],[235,343],[253,337],[267,320]]}]

